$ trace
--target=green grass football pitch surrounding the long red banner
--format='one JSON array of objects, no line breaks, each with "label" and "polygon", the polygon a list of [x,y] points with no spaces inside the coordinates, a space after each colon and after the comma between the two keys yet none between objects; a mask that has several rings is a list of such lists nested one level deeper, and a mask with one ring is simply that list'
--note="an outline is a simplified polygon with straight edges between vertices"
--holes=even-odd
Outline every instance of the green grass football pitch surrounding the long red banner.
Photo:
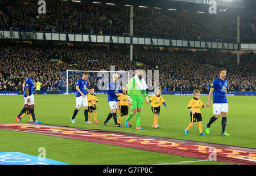
[{"label": "green grass football pitch surrounding the long red banner", "polygon": [[[35,116],[36,119],[48,125],[129,132],[140,135],[256,148],[255,96],[228,96],[229,113],[226,132],[230,136],[221,136],[221,118],[212,124],[210,134],[207,136],[199,136],[197,123],[191,127],[188,136],[184,135],[184,129],[190,123],[187,106],[193,96],[163,95],[168,110],[161,105],[158,129],[152,128],[154,115],[151,111],[151,105],[144,102],[141,113],[141,126],[144,130],[135,130],[135,116],[130,121],[131,125],[133,125],[131,128],[125,127],[125,117],[122,118],[121,127],[114,127],[113,118],[109,121],[110,126],[105,126],[103,122],[110,112],[108,96],[97,95],[97,97],[99,104],[99,108],[97,109],[98,124],[85,124],[84,110],[82,109],[76,116],[76,123],[71,123],[70,118],[76,106],[75,95],[35,95]],[[200,96],[200,99],[206,104],[207,96]],[[23,103],[24,98],[22,95],[0,96],[0,123],[15,123],[14,117],[19,114]],[[212,105],[210,108],[202,108],[201,112],[204,132],[205,124],[212,117]],[[119,111],[117,115],[119,115]],[[91,119],[93,119],[93,114]],[[29,121],[29,115],[22,119],[22,123]],[[22,152],[38,156],[38,149],[40,147],[46,148],[47,158],[68,164],[226,164],[225,162],[202,161],[196,158],[142,151],[88,141],[0,130],[0,152]]]}]

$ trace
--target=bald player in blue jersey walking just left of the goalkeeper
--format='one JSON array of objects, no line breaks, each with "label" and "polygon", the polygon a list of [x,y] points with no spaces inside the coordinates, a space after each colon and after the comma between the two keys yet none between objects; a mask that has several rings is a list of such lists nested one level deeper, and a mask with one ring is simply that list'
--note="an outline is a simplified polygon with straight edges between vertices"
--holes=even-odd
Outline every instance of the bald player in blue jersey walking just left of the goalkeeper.
[{"label": "bald player in blue jersey walking just left of the goalkeeper", "polygon": [[122,93],[122,88],[120,83],[117,81],[118,80],[118,74],[114,73],[112,75],[113,80],[109,83],[108,85],[108,101],[109,101],[109,106],[110,106],[110,113],[108,117],[106,118],[104,125],[109,126],[109,119],[112,118],[114,119],[115,122],[115,127],[120,127],[120,125],[117,123],[117,104],[118,100],[117,98],[120,96],[120,93]]}]

